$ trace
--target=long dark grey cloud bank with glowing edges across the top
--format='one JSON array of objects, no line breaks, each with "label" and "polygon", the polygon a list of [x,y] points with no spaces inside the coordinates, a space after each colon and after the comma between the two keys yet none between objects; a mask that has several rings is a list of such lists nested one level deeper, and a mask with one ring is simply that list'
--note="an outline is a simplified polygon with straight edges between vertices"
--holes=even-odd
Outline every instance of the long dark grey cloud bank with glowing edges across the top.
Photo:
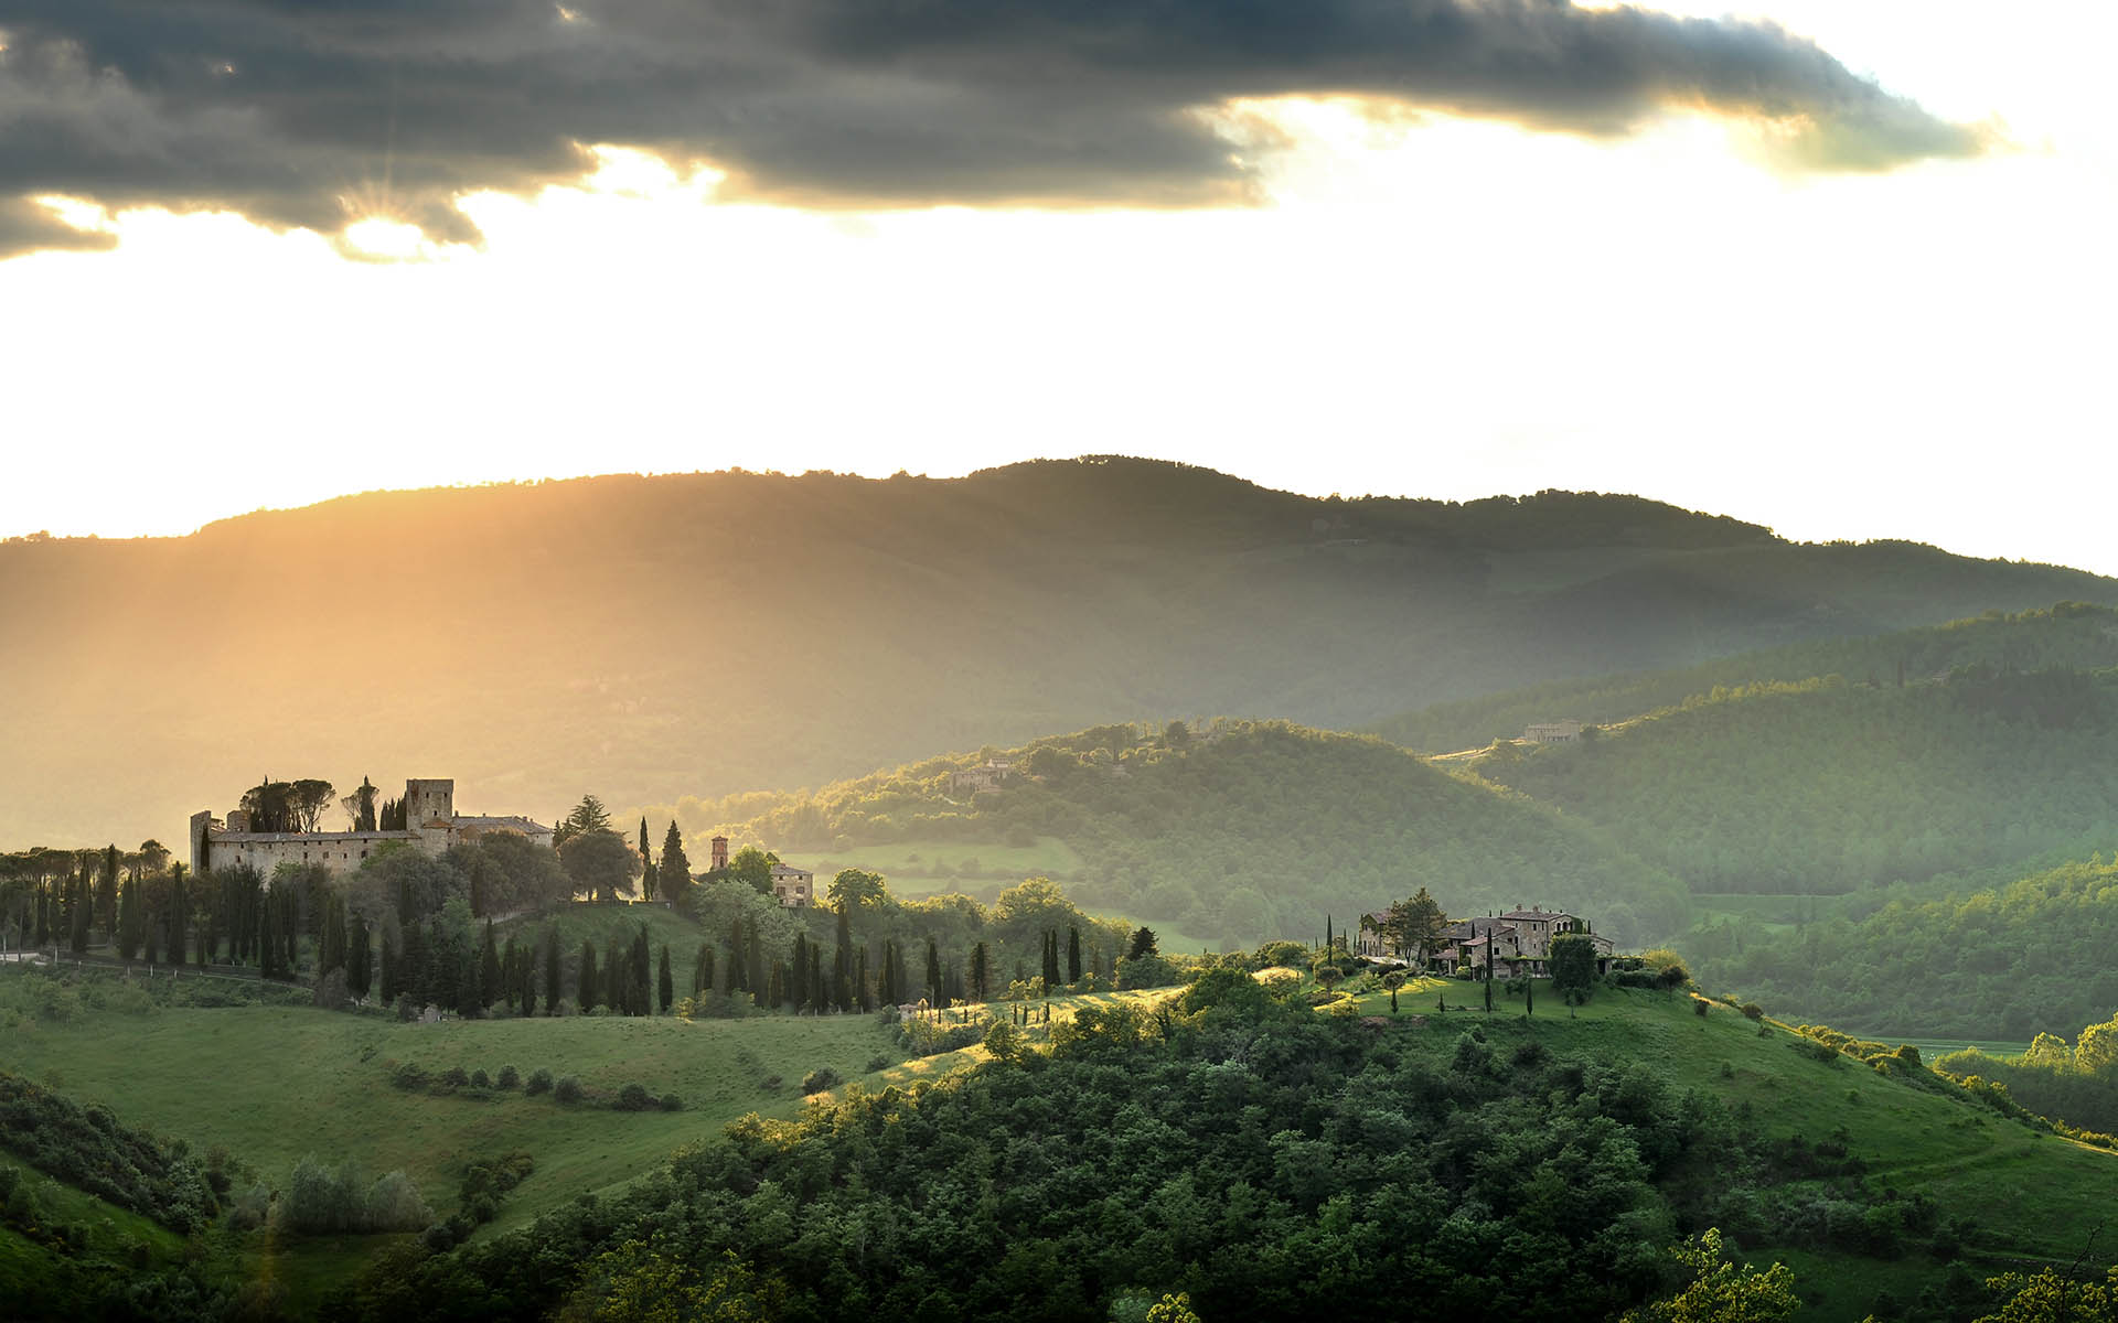
[{"label": "long dark grey cloud bank with glowing edges across the top", "polygon": [[1667,108],[1798,125],[1809,167],[1978,135],[1769,23],[1565,0],[15,0],[0,254],[95,243],[36,195],[337,231],[576,178],[580,144],[811,203],[1190,205],[1245,165],[1195,114],[1353,93],[1616,135]]}]

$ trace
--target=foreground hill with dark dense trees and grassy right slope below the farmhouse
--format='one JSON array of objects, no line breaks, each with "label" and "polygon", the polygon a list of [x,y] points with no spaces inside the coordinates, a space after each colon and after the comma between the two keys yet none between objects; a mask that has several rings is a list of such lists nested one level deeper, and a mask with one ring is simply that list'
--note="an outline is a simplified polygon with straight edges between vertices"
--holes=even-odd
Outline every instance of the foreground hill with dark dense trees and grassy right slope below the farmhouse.
[{"label": "foreground hill with dark dense trees and grassy right slope below the farmhouse", "polygon": [[[1216,1321],[1557,1321],[1709,1270],[1644,1317],[1970,1319],[1995,1272],[2080,1255],[2118,1173],[1904,1056],[1682,991],[1597,991],[1578,1020],[1385,1008],[1224,967],[1078,1008],[1048,1050],[995,1022],[968,1071],[748,1118],[629,1190],[379,1264],[328,1312],[1093,1323],[1184,1293]],[[1705,1228],[1680,1270],[1667,1247]],[[1798,1264],[1777,1308],[1722,1234]]]}]

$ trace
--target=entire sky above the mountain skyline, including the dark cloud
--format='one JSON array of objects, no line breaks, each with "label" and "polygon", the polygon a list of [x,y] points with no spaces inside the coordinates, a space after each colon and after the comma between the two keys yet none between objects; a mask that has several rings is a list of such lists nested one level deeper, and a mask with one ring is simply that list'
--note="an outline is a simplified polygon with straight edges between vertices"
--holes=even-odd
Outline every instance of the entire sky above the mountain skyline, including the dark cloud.
[{"label": "entire sky above the mountain skyline, including the dark cloud", "polygon": [[1131,453],[2118,574],[2118,6],[19,0],[0,536]]}]

